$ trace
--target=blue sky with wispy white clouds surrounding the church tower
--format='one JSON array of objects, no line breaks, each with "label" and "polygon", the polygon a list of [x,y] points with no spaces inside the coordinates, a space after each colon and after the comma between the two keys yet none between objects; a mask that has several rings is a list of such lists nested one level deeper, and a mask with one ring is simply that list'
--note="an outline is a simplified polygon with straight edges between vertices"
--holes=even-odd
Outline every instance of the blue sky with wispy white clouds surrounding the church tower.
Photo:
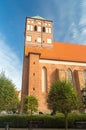
[{"label": "blue sky with wispy white clouds surrounding the church tower", "polygon": [[86,45],[86,0],[0,0],[0,73],[21,90],[25,18],[53,21],[54,41]]}]

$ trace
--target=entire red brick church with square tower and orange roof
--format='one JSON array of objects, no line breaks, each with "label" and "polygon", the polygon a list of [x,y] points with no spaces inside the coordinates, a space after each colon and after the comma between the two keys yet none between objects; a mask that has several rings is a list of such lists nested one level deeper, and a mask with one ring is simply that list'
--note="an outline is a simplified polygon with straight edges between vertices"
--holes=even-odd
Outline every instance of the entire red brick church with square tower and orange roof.
[{"label": "entire red brick church with square tower and orange roof", "polygon": [[40,16],[26,18],[22,110],[24,97],[34,95],[38,111],[48,112],[46,97],[55,80],[70,81],[79,94],[85,87],[86,45],[53,41],[52,23]]}]

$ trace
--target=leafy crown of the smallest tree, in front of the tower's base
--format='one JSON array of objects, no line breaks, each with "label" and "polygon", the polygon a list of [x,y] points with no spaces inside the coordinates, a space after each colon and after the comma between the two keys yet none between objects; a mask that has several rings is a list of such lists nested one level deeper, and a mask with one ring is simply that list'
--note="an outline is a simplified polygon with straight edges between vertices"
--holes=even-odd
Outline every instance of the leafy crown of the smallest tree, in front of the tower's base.
[{"label": "leafy crown of the smallest tree, in front of the tower's base", "polygon": [[33,112],[36,112],[38,108],[38,100],[34,96],[26,96],[25,97],[25,104],[24,104],[24,112],[32,115]]}]

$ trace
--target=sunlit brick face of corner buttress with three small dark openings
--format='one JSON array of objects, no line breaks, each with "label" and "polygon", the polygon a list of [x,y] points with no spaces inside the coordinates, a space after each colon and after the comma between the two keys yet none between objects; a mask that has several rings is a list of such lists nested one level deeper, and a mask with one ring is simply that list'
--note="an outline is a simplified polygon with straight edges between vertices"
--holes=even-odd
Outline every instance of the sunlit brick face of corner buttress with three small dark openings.
[{"label": "sunlit brick face of corner buttress with three small dark openings", "polygon": [[29,83],[28,83],[28,94],[39,94],[39,55],[29,54]]}]

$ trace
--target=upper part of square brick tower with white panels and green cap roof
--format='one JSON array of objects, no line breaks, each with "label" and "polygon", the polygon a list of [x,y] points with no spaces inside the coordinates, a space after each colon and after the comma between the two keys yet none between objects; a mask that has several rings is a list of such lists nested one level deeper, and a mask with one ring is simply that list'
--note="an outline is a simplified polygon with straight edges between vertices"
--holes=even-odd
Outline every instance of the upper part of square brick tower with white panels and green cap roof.
[{"label": "upper part of square brick tower with white panels and green cap roof", "polygon": [[40,16],[27,17],[25,25],[25,46],[52,47],[52,21]]}]

